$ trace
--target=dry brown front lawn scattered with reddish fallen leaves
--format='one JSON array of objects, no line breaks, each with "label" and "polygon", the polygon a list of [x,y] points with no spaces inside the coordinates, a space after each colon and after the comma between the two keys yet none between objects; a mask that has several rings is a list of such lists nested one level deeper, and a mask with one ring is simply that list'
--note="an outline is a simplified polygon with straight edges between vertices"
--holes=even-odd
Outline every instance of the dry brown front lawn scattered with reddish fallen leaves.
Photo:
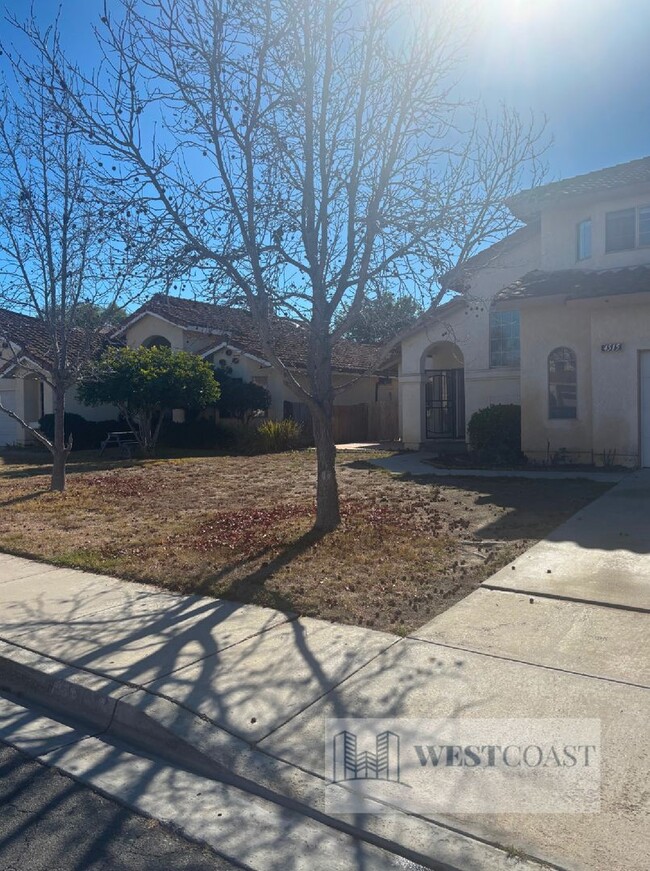
[{"label": "dry brown front lawn scattered with reddish fallen leaves", "polygon": [[340,453],[343,523],[310,532],[312,451],[49,468],[0,460],[0,549],[181,592],[404,633],[539,540],[605,485],[396,479]]}]

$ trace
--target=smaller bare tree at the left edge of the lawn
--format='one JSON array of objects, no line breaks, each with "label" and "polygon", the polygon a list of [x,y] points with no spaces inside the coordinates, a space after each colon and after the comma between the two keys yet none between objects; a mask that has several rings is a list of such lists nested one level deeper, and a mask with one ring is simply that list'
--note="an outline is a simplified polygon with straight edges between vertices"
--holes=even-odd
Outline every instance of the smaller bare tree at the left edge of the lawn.
[{"label": "smaller bare tree at the left edge of the lawn", "polygon": [[[65,97],[53,99],[61,53],[54,30],[43,38],[50,60],[33,65],[5,52],[11,78],[0,108],[0,337],[16,376],[34,373],[51,387],[53,440],[15,411],[1,404],[0,411],[48,448],[51,488],[63,490],[72,447],[66,392],[102,343],[89,308],[110,312],[142,292],[134,266],[148,240],[138,235],[137,210],[91,158]],[[17,333],[28,336],[29,347]]]}]

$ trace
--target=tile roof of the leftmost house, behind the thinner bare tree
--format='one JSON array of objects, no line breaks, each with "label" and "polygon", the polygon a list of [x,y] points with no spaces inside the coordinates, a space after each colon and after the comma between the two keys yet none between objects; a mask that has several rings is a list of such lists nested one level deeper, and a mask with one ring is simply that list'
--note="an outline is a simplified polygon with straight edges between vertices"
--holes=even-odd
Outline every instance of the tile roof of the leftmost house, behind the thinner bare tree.
[{"label": "tile roof of the leftmost house, behind the thinner bare tree", "polygon": [[[0,342],[9,341],[20,348],[17,355],[29,358],[46,371],[52,368],[50,333],[39,318],[0,309]],[[102,346],[104,339],[85,330],[68,335],[68,360],[72,368],[86,362]],[[0,373],[15,363],[15,355],[0,363]]]}]

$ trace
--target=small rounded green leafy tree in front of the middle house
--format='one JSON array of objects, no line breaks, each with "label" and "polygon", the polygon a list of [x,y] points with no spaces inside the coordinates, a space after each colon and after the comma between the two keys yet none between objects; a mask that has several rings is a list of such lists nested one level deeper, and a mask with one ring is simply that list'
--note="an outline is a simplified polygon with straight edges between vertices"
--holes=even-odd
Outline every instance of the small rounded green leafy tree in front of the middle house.
[{"label": "small rounded green leafy tree in front of the middle house", "polygon": [[165,415],[173,408],[198,411],[219,399],[209,363],[171,348],[109,348],[78,390],[86,405],[115,405],[142,451],[156,447]]}]

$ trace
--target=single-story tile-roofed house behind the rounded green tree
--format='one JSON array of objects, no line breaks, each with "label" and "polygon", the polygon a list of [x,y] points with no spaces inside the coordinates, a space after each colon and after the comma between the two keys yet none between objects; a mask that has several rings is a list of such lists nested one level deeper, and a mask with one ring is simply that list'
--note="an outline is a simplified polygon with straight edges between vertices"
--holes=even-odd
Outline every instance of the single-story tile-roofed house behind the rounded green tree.
[{"label": "single-story tile-roofed house behind the rounded green tree", "polygon": [[[304,383],[307,330],[297,321],[277,318],[273,333],[278,357]],[[265,359],[259,333],[244,309],[155,294],[112,338],[129,347],[164,345],[198,354],[215,367],[231,369],[234,378],[265,387],[271,395],[270,418],[307,423],[306,406]],[[373,371],[379,356],[379,349],[358,342],[342,339],[334,346],[334,384],[349,385],[335,401],[334,435],[339,442],[397,437],[396,363]]]}]

